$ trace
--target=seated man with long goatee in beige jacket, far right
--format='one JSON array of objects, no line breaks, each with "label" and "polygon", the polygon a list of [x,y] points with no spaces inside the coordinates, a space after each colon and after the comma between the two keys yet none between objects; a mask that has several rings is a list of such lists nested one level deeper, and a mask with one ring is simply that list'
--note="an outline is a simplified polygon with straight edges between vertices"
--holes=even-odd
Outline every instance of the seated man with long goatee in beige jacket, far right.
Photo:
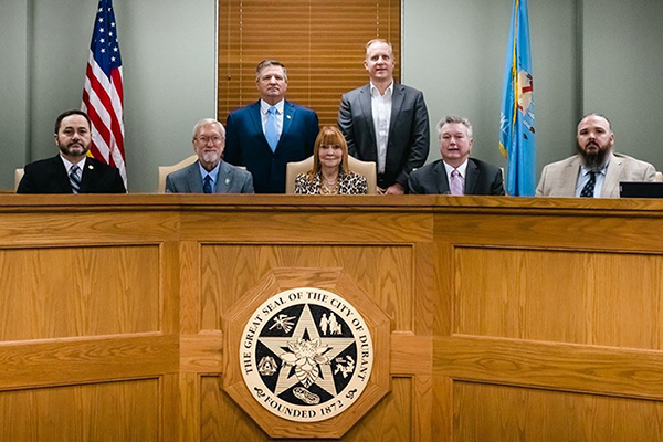
[{"label": "seated man with long goatee in beige jacket, far right", "polygon": [[614,134],[603,115],[586,115],[577,137],[578,155],[544,167],[537,197],[619,198],[620,181],[654,181],[652,165],[612,151]]}]

